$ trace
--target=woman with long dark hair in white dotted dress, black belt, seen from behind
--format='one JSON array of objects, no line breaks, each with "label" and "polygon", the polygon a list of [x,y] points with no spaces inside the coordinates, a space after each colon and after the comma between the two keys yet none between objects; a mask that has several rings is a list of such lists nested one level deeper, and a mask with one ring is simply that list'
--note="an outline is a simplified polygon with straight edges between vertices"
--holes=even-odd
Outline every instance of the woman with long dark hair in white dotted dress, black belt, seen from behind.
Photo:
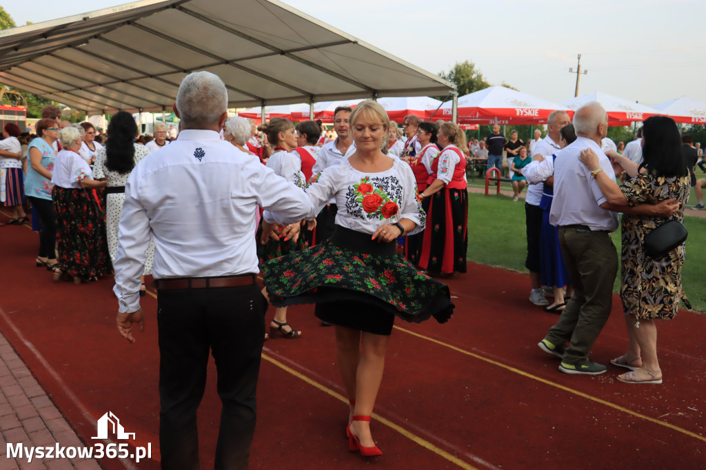
[{"label": "woman with long dark hair in white dotted dress, black belt, seen from behind", "polygon": [[[118,224],[123,215],[125,183],[137,162],[150,155],[150,150],[145,145],[135,143],[137,123],[128,112],[121,111],[113,115],[108,123],[108,135],[108,142],[96,156],[93,176],[105,179],[108,184],[105,190],[107,200],[105,229],[108,252],[113,263],[118,249]],[[154,252],[155,248],[150,243],[143,275],[152,274]],[[144,283],[141,289],[140,295],[144,295]]]}]

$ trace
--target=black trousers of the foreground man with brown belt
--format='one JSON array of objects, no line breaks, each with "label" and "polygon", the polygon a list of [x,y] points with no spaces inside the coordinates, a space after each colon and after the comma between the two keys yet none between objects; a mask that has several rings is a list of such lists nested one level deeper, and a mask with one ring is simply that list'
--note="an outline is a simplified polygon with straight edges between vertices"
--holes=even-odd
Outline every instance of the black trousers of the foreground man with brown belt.
[{"label": "black trousers of the foreground man with brown belt", "polygon": [[160,451],[162,469],[199,469],[196,410],[209,350],[222,402],[216,470],[247,469],[267,301],[257,285],[160,289]]}]

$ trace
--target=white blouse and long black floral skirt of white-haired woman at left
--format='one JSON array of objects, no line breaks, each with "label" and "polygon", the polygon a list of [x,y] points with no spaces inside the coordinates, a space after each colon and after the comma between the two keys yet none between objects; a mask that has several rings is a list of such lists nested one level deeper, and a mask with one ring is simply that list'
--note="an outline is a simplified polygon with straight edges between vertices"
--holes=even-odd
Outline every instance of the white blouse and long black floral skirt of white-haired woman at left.
[{"label": "white blouse and long black floral skirt of white-haired woman at left", "polygon": [[91,177],[88,163],[77,152],[64,149],[56,155],[52,200],[59,265],[67,275],[82,279],[95,279],[113,270],[102,199],[96,191],[79,185]]}]

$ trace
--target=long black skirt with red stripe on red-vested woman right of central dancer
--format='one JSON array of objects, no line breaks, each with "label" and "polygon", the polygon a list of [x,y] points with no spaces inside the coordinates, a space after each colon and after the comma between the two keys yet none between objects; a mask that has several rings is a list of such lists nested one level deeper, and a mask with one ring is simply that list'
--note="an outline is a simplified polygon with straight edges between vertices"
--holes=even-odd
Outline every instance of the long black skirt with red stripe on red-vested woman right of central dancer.
[{"label": "long black skirt with red stripe on red-vested woman right of central dancer", "polygon": [[468,191],[443,188],[431,196],[419,267],[432,273],[466,272]]}]

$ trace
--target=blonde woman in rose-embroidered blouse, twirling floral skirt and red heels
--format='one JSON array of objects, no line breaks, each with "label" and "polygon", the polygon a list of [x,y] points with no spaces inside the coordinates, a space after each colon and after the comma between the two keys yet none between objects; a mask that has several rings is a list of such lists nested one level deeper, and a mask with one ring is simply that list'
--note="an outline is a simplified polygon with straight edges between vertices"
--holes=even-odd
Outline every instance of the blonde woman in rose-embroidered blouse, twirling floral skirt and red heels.
[{"label": "blonde woman in rose-embroidered blouse, twirling floral skirt and red heels", "polygon": [[[356,152],[325,169],[306,190],[313,202],[311,217],[335,198],[333,236],[263,263],[262,270],[275,306],[325,306],[317,316],[335,325],[338,366],[350,403],[349,450],[375,456],[382,452],[373,440],[370,416],[395,316],[421,322],[433,315],[444,323],[453,303],[448,287],[396,254],[397,237],[424,229],[425,216],[409,164],[381,150],[390,123],[385,109],[361,102],[350,123]],[[263,217],[277,221],[267,211]],[[265,223],[263,236],[271,229]]]}]

